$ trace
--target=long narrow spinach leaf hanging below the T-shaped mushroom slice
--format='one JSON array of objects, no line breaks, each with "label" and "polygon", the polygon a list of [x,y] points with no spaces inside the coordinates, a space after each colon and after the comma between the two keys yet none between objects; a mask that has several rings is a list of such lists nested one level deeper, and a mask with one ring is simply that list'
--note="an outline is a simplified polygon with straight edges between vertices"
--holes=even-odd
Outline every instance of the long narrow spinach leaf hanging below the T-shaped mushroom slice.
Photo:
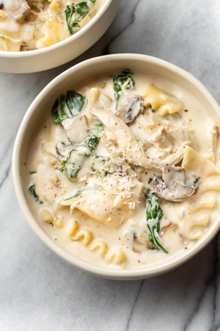
[{"label": "long narrow spinach leaf hanging below the T-shaped mushroom slice", "polygon": [[149,240],[156,248],[160,249],[164,253],[168,253],[168,251],[162,246],[159,234],[160,220],[163,216],[163,211],[159,207],[157,194],[151,192],[148,189],[145,189],[143,193],[145,195],[145,198],[147,199],[146,218],[147,227],[150,231]]}]

